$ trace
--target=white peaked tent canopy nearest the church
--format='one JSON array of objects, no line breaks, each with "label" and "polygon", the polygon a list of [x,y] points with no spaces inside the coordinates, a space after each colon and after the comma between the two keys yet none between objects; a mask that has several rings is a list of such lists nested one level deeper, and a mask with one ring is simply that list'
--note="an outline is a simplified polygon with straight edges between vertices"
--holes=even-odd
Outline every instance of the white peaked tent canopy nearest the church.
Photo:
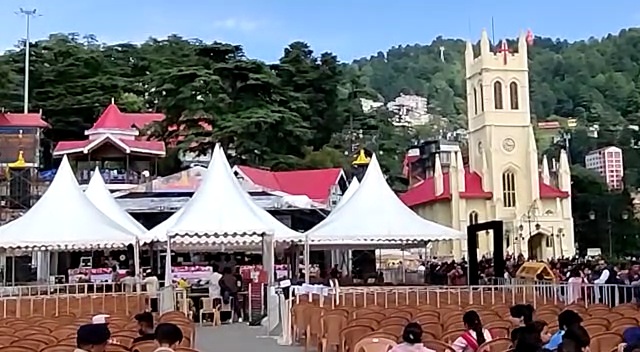
[{"label": "white peaked tent canopy nearest the church", "polygon": [[376,156],[352,196],[307,233],[314,246],[404,246],[465,235],[423,219],[391,190]]}]

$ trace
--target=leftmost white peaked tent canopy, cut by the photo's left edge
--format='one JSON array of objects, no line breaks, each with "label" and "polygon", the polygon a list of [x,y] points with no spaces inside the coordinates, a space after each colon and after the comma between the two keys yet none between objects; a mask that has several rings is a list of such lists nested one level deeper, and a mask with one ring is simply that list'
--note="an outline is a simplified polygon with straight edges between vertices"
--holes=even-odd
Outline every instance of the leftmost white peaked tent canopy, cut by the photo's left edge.
[{"label": "leftmost white peaked tent canopy, cut by the photo's left edge", "polygon": [[131,231],[87,198],[65,156],[40,200],[23,216],[0,227],[0,248],[90,250],[135,244]]}]

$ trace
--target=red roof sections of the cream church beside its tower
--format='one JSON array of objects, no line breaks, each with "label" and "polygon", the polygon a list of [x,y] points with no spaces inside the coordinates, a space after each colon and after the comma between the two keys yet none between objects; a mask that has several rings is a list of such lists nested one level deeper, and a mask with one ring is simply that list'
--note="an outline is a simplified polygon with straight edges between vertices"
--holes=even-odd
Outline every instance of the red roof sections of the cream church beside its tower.
[{"label": "red roof sections of the cream church beside its tower", "polygon": [[[451,191],[449,189],[449,173],[443,173],[443,192],[436,196],[435,184],[433,177],[411,187],[408,191],[400,195],[400,199],[407,206],[438,202],[441,200],[451,199]],[[465,171],[465,191],[460,193],[460,198],[465,199],[491,199],[493,194],[485,192],[482,188],[482,176],[477,172]],[[553,186],[547,185],[540,181],[540,198],[566,198],[569,194],[563,192]]]}]

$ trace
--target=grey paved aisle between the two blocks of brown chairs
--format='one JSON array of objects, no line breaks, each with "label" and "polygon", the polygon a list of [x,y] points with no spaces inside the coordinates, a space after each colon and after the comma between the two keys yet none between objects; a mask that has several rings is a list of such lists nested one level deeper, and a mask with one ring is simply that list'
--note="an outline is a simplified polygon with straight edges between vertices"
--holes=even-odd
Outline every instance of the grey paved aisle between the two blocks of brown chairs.
[{"label": "grey paved aisle between the two blocks of brown chairs", "polygon": [[263,327],[247,324],[198,327],[196,349],[200,352],[301,352],[300,347],[279,346],[276,339],[266,337]]}]

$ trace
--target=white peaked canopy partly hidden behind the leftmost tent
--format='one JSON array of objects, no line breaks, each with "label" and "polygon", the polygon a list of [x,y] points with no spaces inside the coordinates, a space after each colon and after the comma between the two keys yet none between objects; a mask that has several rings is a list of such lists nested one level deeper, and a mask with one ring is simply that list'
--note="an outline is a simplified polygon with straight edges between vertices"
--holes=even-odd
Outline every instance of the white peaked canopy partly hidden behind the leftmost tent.
[{"label": "white peaked canopy partly hidden behind the leftmost tent", "polygon": [[97,167],[93,176],[91,176],[89,186],[87,186],[84,194],[104,215],[110,217],[113,221],[120,224],[120,226],[129,230],[129,232],[137,236],[147,232],[144,226],[118,205],[111,195],[111,192],[107,189],[107,185],[105,185],[104,179]]}]

